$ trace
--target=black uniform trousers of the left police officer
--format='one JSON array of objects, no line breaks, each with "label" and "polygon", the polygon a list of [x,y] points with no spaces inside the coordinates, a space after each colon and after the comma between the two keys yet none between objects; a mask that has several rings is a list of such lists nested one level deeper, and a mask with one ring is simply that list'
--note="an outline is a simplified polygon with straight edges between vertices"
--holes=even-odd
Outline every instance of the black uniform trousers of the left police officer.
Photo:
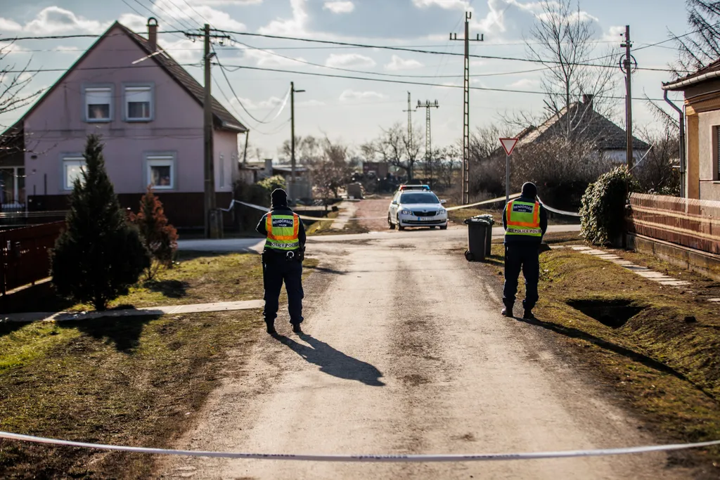
[{"label": "black uniform trousers of the left police officer", "polygon": [[302,323],[302,262],[287,260],[284,252],[263,253],[263,285],[265,288],[265,322],[272,325],[277,318],[282,284],[287,291],[290,323]]}]

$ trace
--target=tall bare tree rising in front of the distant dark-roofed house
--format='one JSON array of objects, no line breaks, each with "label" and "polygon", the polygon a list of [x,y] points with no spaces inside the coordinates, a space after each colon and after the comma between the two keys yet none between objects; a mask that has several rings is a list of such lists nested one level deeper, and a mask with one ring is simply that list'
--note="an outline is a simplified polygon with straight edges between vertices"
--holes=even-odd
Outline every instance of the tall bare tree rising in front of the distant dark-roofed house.
[{"label": "tall bare tree rising in front of the distant dark-roofed house", "polygon": [[[541,89],[547,118],[566,113],[563,133],[577,136],[578,130],[588,129],[593,109],[611,114],[604,97],[615,88],[615,55],[595,58],[595,27],[579,0],[541,0],[540,5],[542,12],[526,39],[528,57],[546,67]],[[585,96],[593,99],[592,108],[571,108]]]}]

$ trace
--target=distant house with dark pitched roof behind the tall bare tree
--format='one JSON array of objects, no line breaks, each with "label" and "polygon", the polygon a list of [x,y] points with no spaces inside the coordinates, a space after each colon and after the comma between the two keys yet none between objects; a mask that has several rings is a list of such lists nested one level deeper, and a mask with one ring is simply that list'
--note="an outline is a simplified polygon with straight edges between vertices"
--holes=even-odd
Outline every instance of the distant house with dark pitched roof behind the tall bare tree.
[{"label": "distant house with dark pitched roof behind the tall bare tree", "polygon": [[[563,136],[570,122],[570,138],[595,142],[600,158],[623,163],[627,159],[627,132],[595,110],[592,95],[583,96],[539,126],[531,125],[517,135],[516,148]],[[642,158],[650,145],[633,137],[633,158]]]}]

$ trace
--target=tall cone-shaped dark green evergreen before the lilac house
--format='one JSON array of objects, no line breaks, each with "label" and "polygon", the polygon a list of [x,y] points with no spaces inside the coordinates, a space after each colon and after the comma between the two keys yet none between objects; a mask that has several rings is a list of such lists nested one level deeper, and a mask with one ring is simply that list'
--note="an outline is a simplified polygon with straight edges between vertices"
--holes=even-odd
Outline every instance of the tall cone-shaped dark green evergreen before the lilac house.
[{"label": "tall cone-shaped dark green evergreen before the lilac house", "polygon": [[138,281],[150,255],[120,208],[97,135],[88,136],[83,156],[86,166],[73,184],[68,228],[53,251],[53,284],[58,294],[104,310]]}]

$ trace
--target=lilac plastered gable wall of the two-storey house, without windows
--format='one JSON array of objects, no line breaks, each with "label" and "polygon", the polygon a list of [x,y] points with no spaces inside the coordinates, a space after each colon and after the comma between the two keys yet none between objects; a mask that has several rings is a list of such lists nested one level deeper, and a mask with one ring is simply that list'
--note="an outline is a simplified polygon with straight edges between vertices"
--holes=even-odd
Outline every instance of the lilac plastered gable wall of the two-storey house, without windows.
[{"label": "lilac plastered gable wall of the two-storey house, without windows", "polygon": [[[118,194],[145,191],[146,153],[176,155],[174,188],[163,192],[203,191],[202,107],[152,59],[132,65],[145,55],[122,30],[112,29],[26,117],[25,141],[32,147],[24,158],[28,192],[67,194],[63,155],[82,153],[90,133],[103,135],[107,172]],[[153,85],[152,121],[123,121],[124,82]],[[88,83],[112,84],[111,122],[84,121],[83,88]]]}]

